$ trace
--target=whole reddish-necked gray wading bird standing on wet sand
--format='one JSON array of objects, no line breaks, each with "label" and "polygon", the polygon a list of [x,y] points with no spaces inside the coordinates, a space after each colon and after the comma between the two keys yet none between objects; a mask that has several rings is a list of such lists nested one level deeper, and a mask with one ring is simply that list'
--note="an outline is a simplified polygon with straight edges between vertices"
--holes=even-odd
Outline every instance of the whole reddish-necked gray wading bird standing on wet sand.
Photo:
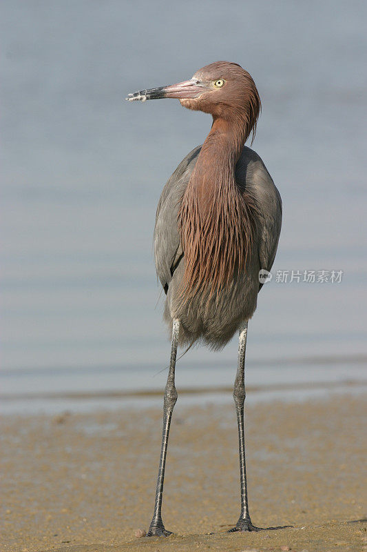
[{"label": "whole reddish-necked gray wading bird standing on wet sand", "polygon": [[169,178],[154,229],[156,270],[167,295],[171,359],[163,407],[162,449],[154,516],[148,536],[170,532],[162,522],[162,493],[169,426],[177,400],[178,345],[202,342],[222,348],[240,332],[233,398],[238,420],[241,513],[231,531],[258,531],[247,502],[244,456],[244,357],[261,274],[273,265],[282,201],[262,159],[244,146],[255,135],[260,97],[237,63],[217,61],[189,81],[129,94],[130,101],[177,98],[185,108],[210,113],[213,124]]}]

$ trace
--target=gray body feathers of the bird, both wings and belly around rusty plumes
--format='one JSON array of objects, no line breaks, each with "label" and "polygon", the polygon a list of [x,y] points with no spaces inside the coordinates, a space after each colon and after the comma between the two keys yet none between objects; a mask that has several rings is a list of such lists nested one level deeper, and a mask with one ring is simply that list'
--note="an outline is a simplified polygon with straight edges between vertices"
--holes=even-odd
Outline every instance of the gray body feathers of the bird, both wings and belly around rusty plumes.
[{"label": "gray body feathers of the bird, both wings and belly around rusty plumes", "polygon": [[185,255],[178,234],[178,210],[201,146],[193,149],[176,168],[162,190],[154,229],[154,255],[160,283],[167,294],[165,321],[180,320],[181,345],[202,340],[211,348],[222,348],[233,337],[242,322],[253,315],[261,288],[259,270],[271,270],[282,224],[280,194],[256,152],[244,146],[235,167],[240,188],[251,193],[259,208],[258,232],[255,234],[247,269],[233,278],[227,290],[207,297],[197,295],[189,304],[178,300],[185,272]]}]

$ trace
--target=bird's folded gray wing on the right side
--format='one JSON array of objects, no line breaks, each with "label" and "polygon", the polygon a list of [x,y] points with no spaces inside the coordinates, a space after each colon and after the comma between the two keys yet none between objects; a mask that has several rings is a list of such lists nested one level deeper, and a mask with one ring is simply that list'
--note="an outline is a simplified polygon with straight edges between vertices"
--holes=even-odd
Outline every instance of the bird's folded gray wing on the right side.
[{"label": "bird's folded gray wing on the right side", "polygon": [[[282,226],[282,199],[273,179],[259,155],[244,147],[236,166],[236,178],[245,180],[245,186],[255,197],[260,208],[260,235],[258,255],[260,268],[270,272],[277,252]],[[262,284],[260,284],[260,289]]]}]

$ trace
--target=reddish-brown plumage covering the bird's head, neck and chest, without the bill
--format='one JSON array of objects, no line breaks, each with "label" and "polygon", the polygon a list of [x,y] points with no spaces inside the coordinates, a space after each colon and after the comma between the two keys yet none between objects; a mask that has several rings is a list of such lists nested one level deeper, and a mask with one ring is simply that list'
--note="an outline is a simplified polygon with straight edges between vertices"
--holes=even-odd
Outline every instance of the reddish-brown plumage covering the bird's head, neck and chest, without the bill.
[{"label": "reddish-brown plumage covering the bird's head, neck and chest, without the bill", "polygon": [[208,289],[218,296],[238,271],[246,270],[255,234],[255,201],[236,184],[235,164],[244,142],[251,132],[255,135],[258,90],[249,73],[235,63],[212,63],[195,77],[226,82],[221,90],[181,100],[187,108],[213,115],[213,126],[178,212],[185,254],[181,299],[185,302]]}]

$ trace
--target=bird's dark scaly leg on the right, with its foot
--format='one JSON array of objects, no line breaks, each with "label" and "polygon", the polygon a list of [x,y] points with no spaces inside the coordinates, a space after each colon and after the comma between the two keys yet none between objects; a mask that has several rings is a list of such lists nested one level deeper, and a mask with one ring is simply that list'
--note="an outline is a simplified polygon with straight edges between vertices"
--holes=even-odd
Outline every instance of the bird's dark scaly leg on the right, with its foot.
[{"label": "bird's dark scaly leg on the right, with its foot", "polygon": [[244,399],[246,392],[244,390],[244,357],[246,353],[247,322],[240,328],[240,339],[238,342],[238,366],[235,375],[235,384],[233,388],[233,399],[235,401],[235,412],[238,422],[238,445],[240,449],[240,480],[241,480],[241,513],[233,531],[258,531],[260,528],[251,523],[249,514],[249,503],[247,501],[247,479],[246,479],[246,461],[244,457]]}]

